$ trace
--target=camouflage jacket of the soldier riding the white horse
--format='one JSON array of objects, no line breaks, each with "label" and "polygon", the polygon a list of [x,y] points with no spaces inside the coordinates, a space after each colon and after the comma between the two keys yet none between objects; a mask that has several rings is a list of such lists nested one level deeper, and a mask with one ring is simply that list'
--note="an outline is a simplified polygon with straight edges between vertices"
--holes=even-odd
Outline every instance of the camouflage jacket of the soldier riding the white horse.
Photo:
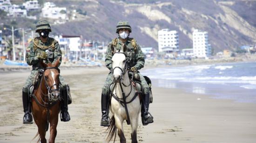
[{"label": "camouflage jacket of the soldier riding the white horse", "polygon": [[[116,41],[115,41],[116,40]],[[107,54],[105,59],[105,65],[109,70],[112,69],[112,51],[111,51],[111,45],[115,48],[115,50],[119,50],[122,48],[122,42],[117,38],[113,39],[112,42],[108,44],[107,48]],[[141,46],[139,46],[135,39],[128,38],[127,42],[125,43],[127,46],[127,58],[128,58],[128,68],[131,68],[135,66],[137,70],[140,70],[142,67],[144,67],[144,54],[141,51]]]}]

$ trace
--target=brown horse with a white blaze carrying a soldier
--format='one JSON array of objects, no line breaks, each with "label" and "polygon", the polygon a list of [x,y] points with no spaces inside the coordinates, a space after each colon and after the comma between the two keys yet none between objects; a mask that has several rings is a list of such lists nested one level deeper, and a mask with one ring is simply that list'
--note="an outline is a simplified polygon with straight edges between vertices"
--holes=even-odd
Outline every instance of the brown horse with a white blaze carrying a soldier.
[{"label": "brown horse with a white blaze carrying a soldier", "polygon": [[57,135],[56,127],[60,113],[60,70],[58,69],[60,60],[58,59],[54,64],[45,64],[40,61],[40,64],[44,67],[44,72],[40,79],[40,83],[37,87],[34,87],[31,105],[34,121],[38,127],[36,136],[40,135],[37,143],[39,143],[39,141],[41,141],[41,143],[47,143],[45,135],[49,123],[49,143],[54,143]]}]

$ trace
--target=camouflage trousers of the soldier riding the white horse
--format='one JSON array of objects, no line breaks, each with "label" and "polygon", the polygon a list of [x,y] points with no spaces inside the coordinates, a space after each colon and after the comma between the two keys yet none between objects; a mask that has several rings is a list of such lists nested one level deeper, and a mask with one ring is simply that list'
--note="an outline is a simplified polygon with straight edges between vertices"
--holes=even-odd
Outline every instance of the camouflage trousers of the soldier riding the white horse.
[{"label": "camouflage trousers of the soldier riding the white horse", "polygon": [[[144,95],[146,94],[149,94],[149,86],[148,86],[148,83],[147,81],[145,80],[145,78],[140,74],[140,79],[141,79],[141,86],[143,88],[143,91],[144,91]],[[106,78],[106,81],[105,81],[105,84],[104,86],[102,87],[102,94],[104,95],[108,95],[110,91],[109,90],[109,85],[113,82],[113,79],[112,79],[112,74],[109,73],[108,74],[108,77]]]}]

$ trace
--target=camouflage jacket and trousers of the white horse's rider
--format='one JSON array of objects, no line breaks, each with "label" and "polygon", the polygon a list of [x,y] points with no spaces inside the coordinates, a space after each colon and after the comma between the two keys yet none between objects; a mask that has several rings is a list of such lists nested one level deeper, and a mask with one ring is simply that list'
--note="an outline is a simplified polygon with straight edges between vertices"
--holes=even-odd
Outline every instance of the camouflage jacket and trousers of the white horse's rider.
[{"label": "camouflage jacket and trousers of the white horse's rider", "polygon": [[[123,46],[122,46],[122,42],[120,41],[120,39],[113,39],[113,41],[116,40],[116,45],[114,46],[115,50],[118,51],[120,50]],[[132,42],[135,43],[135,46],[133,46]],[[112,69],[112,51],[111,51],[111,45],[113,42],[109,43],[108,45],[108,49],[107,49],[107,54],[106,54],[106,59],[105,59],[105,65],[107,66],[107,68],[111,71]],[[141,68],[144,67],[144,54],[141,51],[141,46],[139,46],[136,42],[135,39],[133,38],[128,38],[127,42],[125,43],[125,45],[127,46],[127,58],[128,61],[130,61],[128,63],[128,68],[131,68],[133,66],[136,67],[137,70],[140,70]],[[136,50],[135,50],[136,47]],[[144,91],[144,94],[148,94],[149,93],[149,86],[145,80],[145,78],[138,73],[141,79],[141,85]],[[108,77],[106,78],[105,84],[102,87],[102,93],[108,95],[109,93],[109,85],[113,82],[112,79],[112,75],[111,73],[108,74]]]}]

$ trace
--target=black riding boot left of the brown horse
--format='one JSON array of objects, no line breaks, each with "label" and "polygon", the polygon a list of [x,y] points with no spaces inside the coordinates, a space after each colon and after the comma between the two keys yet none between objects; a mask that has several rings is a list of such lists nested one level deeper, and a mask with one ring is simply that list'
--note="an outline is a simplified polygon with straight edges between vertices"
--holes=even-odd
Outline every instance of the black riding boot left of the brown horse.
[{"label": "black riding boot left of the brown horse", "polygon": [[23,116],[23,124],[30,124],[33,123],[33,117],[31,111],[28,110],[30,103],[27,92],[22,91],[22,101],[23,101],[23,109],[25,115]]}]

